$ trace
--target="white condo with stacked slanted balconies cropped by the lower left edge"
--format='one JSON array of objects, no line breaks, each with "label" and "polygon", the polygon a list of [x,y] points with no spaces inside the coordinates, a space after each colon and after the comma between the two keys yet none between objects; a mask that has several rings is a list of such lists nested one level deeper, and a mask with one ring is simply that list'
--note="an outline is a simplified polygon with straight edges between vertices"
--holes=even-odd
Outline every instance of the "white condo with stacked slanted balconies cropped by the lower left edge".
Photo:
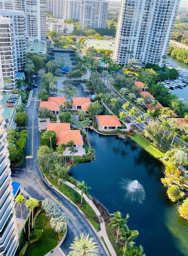
[{"label": "white condo with stacked slanted balconies cropped by the lower left edge", "polygon": [[18,234],[3,112],[4,107],[0,102],[0,255],[14,256],[18,247]]}]

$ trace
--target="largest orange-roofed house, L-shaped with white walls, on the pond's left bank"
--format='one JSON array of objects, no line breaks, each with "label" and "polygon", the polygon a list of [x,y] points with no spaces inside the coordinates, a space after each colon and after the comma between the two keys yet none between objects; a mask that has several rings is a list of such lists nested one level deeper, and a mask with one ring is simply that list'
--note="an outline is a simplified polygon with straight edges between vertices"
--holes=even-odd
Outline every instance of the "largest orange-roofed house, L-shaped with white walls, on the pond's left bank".
[{"label": "largest orange-roofed house, L-shaped with white walls, on the pond's left bank", "polygon": [[[83,148],[83,139],[80,130],[71,130],[70,123],[47,123],[47,130],[54,131],[56,133],[56,144],[67,144],[70,140],[74,141],[74,147],[78,150],[74,155],[82,156],[85,154]],[[69,145],[65,150],[66,155],[70,154]]]}]

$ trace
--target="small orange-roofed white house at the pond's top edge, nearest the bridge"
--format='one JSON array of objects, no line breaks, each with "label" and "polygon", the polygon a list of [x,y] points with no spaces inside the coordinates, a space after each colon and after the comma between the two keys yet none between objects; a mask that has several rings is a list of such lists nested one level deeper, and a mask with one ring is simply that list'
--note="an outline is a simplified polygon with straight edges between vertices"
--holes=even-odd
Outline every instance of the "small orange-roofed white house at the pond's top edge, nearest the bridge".
[{"label": "small orange-roofed white house at the pond's top edge, nearest the bridge", "polygon": [[97,116],[97,124],[99,131],[115,131],[118,127],[121,127],[121,123],[117,116]]}]

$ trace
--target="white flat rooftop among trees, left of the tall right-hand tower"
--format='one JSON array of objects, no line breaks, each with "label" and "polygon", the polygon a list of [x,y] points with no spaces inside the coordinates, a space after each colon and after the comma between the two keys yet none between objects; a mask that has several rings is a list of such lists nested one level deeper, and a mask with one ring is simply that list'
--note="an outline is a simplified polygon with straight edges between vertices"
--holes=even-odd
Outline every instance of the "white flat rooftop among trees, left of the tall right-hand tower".
[{"label": "white flat rooftop among trees, left of the tall right-hand tower", "polygon": [[115,41],[110,40],[87,39],[85,44],[86,48],[93,46],[96,49],[107,49],[112,51],[115,49]]}]

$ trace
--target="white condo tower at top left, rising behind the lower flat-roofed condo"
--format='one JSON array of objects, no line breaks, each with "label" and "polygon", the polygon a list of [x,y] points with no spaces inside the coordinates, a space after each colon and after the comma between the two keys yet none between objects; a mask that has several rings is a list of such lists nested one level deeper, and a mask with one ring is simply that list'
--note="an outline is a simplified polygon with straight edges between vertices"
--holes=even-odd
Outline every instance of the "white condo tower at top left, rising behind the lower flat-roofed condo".
[{"label": "white condo tower at top left, rising behind the lower flat-roofed condo", "polygon": [[24,11],[26,39],[46,39],[46,0],[0,0],[0,8]]}]

